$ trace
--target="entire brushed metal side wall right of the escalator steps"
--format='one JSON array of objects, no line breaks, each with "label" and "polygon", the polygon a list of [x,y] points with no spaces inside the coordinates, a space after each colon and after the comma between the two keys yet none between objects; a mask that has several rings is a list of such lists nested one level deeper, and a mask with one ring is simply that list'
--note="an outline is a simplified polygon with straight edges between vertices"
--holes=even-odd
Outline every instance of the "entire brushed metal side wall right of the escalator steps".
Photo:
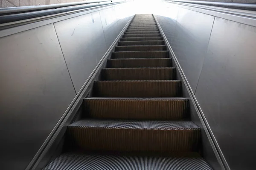
[{"label": "entire brushed metal side wall right of the escalator steps", "polygon": [[163,8],[156,18],[230,169],[254,170],[256,28],[163,6],[177,11],[176,16]]}]

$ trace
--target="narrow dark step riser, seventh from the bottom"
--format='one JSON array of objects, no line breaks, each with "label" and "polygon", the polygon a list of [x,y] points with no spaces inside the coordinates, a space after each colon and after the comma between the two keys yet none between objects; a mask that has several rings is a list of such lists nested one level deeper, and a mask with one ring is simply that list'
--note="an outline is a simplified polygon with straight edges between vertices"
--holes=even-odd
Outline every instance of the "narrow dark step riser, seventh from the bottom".
[{"label": "narrow dark step riser, seventh from the bottom", "polygon": [[166,45],[128,45],[116,46],[115,51],[165,51]]}]

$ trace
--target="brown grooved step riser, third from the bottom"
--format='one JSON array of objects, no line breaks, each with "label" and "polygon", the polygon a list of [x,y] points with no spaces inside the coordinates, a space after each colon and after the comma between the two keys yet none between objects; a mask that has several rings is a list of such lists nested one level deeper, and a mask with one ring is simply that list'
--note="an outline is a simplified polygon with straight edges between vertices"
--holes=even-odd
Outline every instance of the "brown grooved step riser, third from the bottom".
[{"label": "brown grooved step riser, third from the bottom", "polygon": [[181,81],[94,81],[97,97],[180,97]]}]

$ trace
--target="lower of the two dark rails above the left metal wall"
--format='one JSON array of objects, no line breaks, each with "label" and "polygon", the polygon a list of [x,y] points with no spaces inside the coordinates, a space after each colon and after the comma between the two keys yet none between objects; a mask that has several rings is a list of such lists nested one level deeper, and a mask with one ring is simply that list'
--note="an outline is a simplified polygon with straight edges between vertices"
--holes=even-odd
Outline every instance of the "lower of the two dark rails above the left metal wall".
[{"label": "lower of the two dark rails above the left metal wall", "polygon": [[3,15],[3,16],[0,16],[0,24],[11,23],[11,22],[20,21],[20,20],[27,20],[27,19],[36,18],[36,17],[44,17],[47,15],[58,14],[58,13],[63,13],[63,12],[68,12],[68,11],[75,11],[75,10],[79,10],[79,9],[86,9],[86,8],[92,8],[92,7],[97,7],[97,6],[113,5],[113,4],[117,4],[117,3],[123,3],[123,2],[125,2],[125,0],[116,1],[113,3],[84,5],[84,6],[71,6],[71,7],[67,7],[67,8],[50,9],[47,11],[35,11],[35,12],[28,12],[28,13],[21,13],[21,14]]}]

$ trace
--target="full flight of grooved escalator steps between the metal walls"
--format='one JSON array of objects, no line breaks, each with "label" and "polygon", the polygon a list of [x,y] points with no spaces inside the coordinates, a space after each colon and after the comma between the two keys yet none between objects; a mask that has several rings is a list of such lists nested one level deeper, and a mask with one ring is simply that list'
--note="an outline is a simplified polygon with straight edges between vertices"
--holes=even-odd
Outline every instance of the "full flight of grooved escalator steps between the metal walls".
[{"label": "full flight of grooved escalator steps between the metal walls", "polygon": [[84,112],[67,126],[67,152],[44,170],[211,170],[151,14],[135,15]]}]

